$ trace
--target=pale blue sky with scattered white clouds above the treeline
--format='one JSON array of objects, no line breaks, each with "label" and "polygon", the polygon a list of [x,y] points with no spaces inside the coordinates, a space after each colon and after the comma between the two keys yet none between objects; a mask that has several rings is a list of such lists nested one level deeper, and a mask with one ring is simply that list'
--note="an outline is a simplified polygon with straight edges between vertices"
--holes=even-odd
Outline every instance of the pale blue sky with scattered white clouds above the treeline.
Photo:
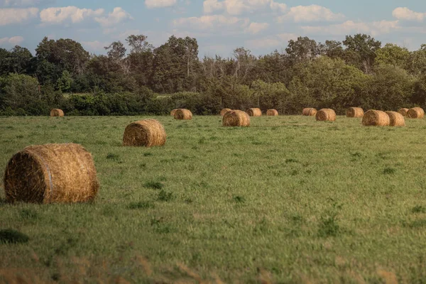
[{"label": "pale blue sky with scattered white clouds above the treeline", "polygon": [[91,53],[127,35],[158,46],[170,35],[197,38],[200,57],[237,47],[266,54],[288,40],[344,40],[368,33],[417,50],[426,43],[425,0],[0,0],[0,47],[34,52],[44,36],[72,38]]}]

